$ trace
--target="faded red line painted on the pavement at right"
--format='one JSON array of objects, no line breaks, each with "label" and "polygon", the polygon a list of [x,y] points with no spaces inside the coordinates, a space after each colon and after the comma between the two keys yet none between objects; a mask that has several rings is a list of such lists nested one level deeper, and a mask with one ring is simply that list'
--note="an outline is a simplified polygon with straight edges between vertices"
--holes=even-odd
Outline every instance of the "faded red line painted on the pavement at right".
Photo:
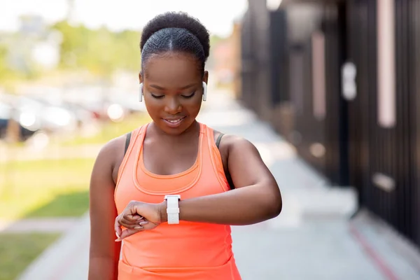
[{"label": "faded red line painted on the pavement at right", "polygon": [[374,265],[379,269],[381,274],[383,274],[388,280],[398,280],[398,277],[392,271],[392,269],[386,264],[386,262],[380,257],[380,255],[374,251],[374,248],[369,244],[369,242],[363,237],[363,235],[356,229],[354,225],[350,225],[350,232],[358,241],[360,246],[363,247],[367,255],[370,257]]}]

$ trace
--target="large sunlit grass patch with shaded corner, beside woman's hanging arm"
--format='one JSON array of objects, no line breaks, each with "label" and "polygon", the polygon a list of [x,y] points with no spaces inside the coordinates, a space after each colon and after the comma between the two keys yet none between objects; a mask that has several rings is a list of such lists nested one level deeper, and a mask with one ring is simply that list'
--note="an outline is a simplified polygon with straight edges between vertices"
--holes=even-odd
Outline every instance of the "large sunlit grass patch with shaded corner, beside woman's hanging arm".
[{"label": "large sunlit grass patch with shaded corner, beside woman's hanging arm", "polygon": [[94,159],[0,164],[0,218],[80,216],[89,207]]}]

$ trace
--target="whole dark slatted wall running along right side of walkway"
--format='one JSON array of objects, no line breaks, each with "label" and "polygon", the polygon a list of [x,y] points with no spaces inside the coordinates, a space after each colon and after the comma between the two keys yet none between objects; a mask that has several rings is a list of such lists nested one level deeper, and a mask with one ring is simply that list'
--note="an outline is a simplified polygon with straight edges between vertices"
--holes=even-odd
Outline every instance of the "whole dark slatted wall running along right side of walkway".
[{"label": "whole dark slatted wall running along right side of walkway", "polygon": [[274,12],[258,2],[242,28],[244,103],[420,245],[420,0],[296,1]]}]

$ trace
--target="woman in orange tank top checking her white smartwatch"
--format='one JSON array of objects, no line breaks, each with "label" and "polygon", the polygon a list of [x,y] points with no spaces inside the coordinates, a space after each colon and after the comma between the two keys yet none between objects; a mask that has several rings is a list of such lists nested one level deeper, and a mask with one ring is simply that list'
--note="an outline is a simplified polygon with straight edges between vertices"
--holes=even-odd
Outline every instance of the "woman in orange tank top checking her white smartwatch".
[{"label": "woman in orange tank top checking her white smartwatch", "polygon": [[110,141],[94,164],[89,279],[241,279],[230,225],[278,216],[279,187],[253,144],[195,120],[207,29],[165,13],[144,27],[140,48],[140,99],[153,121]]}]

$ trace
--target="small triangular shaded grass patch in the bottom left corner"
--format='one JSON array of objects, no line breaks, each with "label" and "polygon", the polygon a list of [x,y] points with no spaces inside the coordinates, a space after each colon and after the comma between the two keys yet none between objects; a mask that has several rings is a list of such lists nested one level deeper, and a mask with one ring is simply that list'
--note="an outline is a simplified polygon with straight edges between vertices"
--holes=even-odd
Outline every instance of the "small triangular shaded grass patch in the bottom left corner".
[{"label": "small triangular shaded grass patch in the bottom left corner", "polygon": [[14,280],[59,234],[0,234],[0,280]]}]

